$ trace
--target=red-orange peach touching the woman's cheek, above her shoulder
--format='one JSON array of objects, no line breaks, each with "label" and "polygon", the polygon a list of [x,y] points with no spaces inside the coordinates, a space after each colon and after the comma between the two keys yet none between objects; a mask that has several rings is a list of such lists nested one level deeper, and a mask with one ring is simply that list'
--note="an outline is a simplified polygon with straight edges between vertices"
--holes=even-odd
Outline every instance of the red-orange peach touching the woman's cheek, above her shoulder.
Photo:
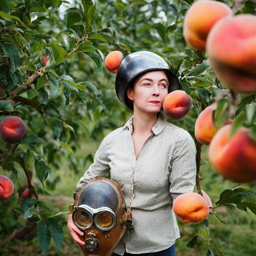
[{"label": "red-orange peach touching the woman's cheek, above her shoulder", "polygon": [[184,91],[176,90],[164,98],[163,111],[172,120],[180,120],[191,111],[192,98]]}]

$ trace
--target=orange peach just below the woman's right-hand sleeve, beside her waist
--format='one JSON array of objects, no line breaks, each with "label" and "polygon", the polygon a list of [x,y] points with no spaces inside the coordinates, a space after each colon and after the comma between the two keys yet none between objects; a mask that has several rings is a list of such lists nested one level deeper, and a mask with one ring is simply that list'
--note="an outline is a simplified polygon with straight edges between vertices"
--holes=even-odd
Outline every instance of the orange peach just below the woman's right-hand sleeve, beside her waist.
[{"label": "orange peach just below the woman's right-hand sleeve, beside her waist", "polygon": [[190,192],[179,195],[174,200],[173,212],[183,223],[197,223],[209,215],[209,206],[203,196]]}]

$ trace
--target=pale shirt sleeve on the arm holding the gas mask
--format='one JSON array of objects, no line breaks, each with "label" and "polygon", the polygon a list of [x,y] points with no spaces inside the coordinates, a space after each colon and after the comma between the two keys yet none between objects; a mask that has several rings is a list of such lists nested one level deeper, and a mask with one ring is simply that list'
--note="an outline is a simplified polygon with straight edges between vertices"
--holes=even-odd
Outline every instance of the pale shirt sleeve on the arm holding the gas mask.
[{"label": "pale shirt sleeve on the arm holding the gas mask", "polygon": [[109,158],[107,155],[108,140],[106,136],[100,144],[99,149],[96,151],[94,161],[90,167],[85,171],[84,175],[77,183],[76,190],[80,191],[92,178],[109,176]]}]

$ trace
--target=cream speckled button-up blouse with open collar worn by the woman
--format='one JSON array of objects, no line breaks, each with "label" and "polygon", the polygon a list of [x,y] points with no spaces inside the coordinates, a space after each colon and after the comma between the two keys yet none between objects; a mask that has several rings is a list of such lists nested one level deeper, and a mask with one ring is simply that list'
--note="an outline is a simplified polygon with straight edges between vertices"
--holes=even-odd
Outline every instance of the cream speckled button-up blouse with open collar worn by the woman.
[{"label": "cream speckled button-up blouse with open collar worn by the woman", "polygon": [[173,200],[193,192],[196,184],[196,147],[184,129],[168,123],[162,113],[136,160],[132,139],[133,116],[110,132],[95,153],[94,163],[77,184],[80,191],[94,177],[111,176],[121,188],[133,228],[115,248],[124,255],[158,252],[180,237]]}]

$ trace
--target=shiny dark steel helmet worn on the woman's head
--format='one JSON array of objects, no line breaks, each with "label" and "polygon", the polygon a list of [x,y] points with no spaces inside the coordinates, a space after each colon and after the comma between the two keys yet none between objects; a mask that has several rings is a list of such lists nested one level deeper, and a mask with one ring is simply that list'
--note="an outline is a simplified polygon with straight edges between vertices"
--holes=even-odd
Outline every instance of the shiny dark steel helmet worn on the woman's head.
[{"label": "shiny dark steel helmet worn on the woman's head", "polygon": [[115,87],[118,99],[126,108],[133,111],[133,101],[127,97],[127,88],[130,83],[144,72],[157,70],[165,71],[168,77],[168,93],[179,89],[179,79],[169,69],[167,62],[156,53],[139,51],[124,57],[116,74]]}]

